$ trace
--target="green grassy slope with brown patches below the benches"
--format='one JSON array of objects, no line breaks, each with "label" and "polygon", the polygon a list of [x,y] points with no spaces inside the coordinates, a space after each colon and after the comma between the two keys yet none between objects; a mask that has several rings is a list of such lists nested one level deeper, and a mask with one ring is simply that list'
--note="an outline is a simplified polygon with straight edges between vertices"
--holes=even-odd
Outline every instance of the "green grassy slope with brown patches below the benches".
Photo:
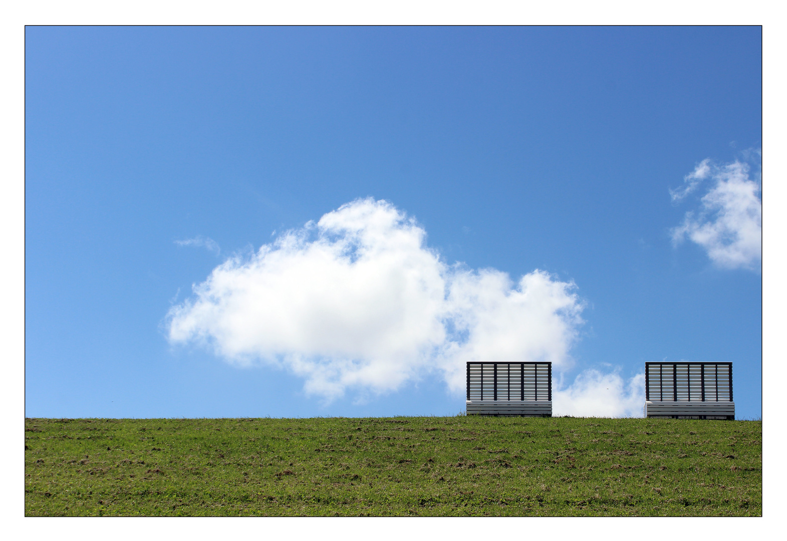
[{"label": "green grassy slope with brown patches below the benches", "polygon": [[27,516],[762,515],[762,423],[28,419]]}]

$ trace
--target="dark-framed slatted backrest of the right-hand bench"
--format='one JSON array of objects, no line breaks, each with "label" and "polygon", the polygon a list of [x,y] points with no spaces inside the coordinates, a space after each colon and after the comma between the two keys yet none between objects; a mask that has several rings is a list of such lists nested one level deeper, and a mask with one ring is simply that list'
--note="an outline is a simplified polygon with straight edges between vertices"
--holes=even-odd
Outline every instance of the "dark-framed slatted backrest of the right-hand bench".
[{"label": "dark-framed slatted backrest of the right-hand bench", "polygon": [[733,400],[731,362],[646,362],[645,400]]}]

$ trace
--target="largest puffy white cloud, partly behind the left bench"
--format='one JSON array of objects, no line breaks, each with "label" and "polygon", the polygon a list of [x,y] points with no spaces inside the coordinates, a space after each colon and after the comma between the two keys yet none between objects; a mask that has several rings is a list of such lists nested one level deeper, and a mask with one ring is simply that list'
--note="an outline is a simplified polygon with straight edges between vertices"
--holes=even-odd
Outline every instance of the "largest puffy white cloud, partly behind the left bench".
[{"label": "largest puffy white cloud, partly behind the left bench", "polygon": [[447,265],[425,237],[388,202],[348,203],[216,267],[168,313],[169,339],[281,365],[329,400],[427,373],[460,392],[465,361],[570,365],[582,324],[573,283]]}]

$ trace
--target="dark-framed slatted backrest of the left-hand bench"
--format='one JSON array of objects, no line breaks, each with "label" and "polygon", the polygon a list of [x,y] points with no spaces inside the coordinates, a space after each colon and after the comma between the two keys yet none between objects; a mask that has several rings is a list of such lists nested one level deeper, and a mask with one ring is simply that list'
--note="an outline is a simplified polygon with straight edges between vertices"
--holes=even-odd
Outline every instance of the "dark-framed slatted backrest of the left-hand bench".
[{"label": "dark-framed slatted backrest of the left-hand bench", "polygon": [[468,362],[467,400],[552,400],[551,362]]}]

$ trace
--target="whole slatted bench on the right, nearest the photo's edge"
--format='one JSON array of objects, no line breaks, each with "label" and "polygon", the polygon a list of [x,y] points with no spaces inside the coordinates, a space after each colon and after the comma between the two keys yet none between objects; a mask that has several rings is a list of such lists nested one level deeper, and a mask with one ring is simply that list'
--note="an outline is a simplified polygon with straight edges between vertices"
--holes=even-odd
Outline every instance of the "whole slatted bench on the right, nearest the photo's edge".
[{"label": "whole slatted bench on the right, nearest the photo's edge", "polygon": [[733,364],[645,363],[645,417],[734,419]]}]

